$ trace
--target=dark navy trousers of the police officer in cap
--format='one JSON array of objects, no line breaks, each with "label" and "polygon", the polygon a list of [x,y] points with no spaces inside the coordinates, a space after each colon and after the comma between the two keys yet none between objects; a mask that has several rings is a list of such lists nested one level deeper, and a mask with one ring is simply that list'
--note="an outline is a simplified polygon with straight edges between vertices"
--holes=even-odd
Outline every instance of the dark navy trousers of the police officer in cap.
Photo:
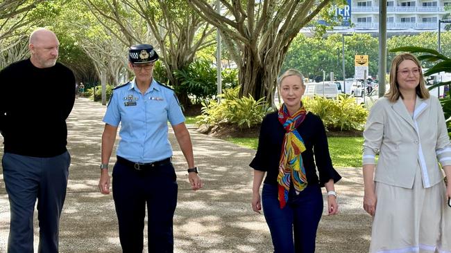
[{"label": "dark navy trousers of the police officer in cap", "polygon": [[173,252],[178,185],[172,164],[137,171],[116,162],[112,190],[122,252],[142,253],[146,204],[148,252]]}]

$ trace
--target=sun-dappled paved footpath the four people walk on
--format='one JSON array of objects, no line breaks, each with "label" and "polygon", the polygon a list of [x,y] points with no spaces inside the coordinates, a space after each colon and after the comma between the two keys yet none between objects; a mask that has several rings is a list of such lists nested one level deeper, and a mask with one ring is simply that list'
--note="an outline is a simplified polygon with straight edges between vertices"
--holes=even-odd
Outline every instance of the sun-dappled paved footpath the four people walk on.
[{"label": "sun-dappled paved footpath the four people walk on", "polygon": [[[100,194],[97,187],[104,113],[105,106],[78,98],[67,120],[72,160],[60,224],[63,253],[121,252],[112,195]],[[255,214],[250,207],[253,171],[248,164],[255,151],[194,130],[190,133],[205,187],[196,192],[190,189],[186,162],[170,133],[179,185],[174,218],[175,252],[271,252],[264,216]],[[115,157],[110,167],[114,161]],[[343,176],[336,187],[341,212],[338,216],[323,216],[316,252],[368,252],[371,218],[361,209],[360,169],[339,169],[339,173]],[[6,252],[9,219],[8,195],[0,170],[0,252]],[[35,215],[35,252],[37,236]]]}]

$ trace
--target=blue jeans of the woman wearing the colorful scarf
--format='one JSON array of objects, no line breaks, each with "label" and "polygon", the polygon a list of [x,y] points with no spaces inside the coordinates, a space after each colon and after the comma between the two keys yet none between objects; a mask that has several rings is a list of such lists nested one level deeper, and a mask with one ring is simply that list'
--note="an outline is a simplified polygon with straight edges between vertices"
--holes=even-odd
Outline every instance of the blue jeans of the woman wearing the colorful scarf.
[{"label": "blue jeans of the woman wearing the colorful scarf", "polygon": [[308,185],[297,196],[291,190],[287,205],[280,209],[278,186],[264,184],[262,205],[274,253],[315,252],[316,230],[323,213],[319,185]]}]

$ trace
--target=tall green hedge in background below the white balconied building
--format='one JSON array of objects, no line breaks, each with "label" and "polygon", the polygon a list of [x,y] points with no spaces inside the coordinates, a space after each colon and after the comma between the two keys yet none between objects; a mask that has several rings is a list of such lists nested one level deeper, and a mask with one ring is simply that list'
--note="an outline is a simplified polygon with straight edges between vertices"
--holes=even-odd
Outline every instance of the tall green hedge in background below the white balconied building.
[{"label": "tall green hedge in background below the white balconied building", "polygon": [[[296,68],[306,77],[322,77],[324,70],[328,75],[334,72],[337,79],[343,79],[342,75],[342,37],[340,34],[333,34],[327,38],[305,37],[302,33],[293,39],[289,46],[287,56],[281,68],[281,72],[288,68]],[[368,74],[375,77],[377,75],[378,59],[378,39],[369,34],[358,33],[344,37],[345,67],[346,77],[352,77],[354,73],[355,55],[368,55]],[[398,48],[400,46],[421,46],[425,48],[436,48],[437,32],[420,32],[416,35],[399,35],[390,37],[387,40],[387,48]],[[441,49],[443,55],[451,55],[451,32],[441,32]],[[390,62],[395,57],[395,53],[387,54],[387,71]],[[425,68],[430,68],[432,62],[423,62]]]}]

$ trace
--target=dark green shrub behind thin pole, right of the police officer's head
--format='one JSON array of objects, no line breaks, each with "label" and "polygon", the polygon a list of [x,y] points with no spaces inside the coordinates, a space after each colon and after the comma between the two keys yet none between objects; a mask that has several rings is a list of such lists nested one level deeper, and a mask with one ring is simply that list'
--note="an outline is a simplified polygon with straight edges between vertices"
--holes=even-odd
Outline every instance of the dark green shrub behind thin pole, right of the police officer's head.
[{"label": "dark green shrub behind thin pole, right of the police officer's head", "polygon": [[[210,100],[216,95],[216,68],[212,62],[198,59],[186,68],[174,71],[174,75],[180,81],[176,87],[176,93],[185,93],[194,97],[194,104]],[[233,88],[238,83],[238,71],[226,69],[222,71],[223,87]]]}]

